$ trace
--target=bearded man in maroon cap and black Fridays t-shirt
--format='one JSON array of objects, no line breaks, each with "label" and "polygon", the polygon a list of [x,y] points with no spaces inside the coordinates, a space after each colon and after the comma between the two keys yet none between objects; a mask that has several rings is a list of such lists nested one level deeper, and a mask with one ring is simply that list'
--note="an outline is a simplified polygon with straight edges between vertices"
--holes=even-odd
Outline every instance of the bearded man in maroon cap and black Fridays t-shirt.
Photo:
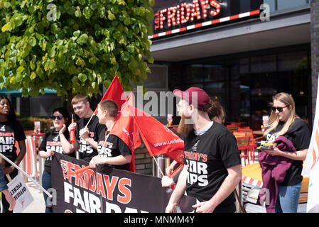
[{"label": "bearded man in maroon cap and black Fridays t-shirt", "polygon": [[210,121],[210,97],[198,88],[174,90],[181,98],[178,133],[184,138],[184,168],[178,178],[166,212],[175,212],[185,193],[198,199],[196,212],[234,213],[234,189],[242,179],[242,165],[236,138],[225,126]]}]

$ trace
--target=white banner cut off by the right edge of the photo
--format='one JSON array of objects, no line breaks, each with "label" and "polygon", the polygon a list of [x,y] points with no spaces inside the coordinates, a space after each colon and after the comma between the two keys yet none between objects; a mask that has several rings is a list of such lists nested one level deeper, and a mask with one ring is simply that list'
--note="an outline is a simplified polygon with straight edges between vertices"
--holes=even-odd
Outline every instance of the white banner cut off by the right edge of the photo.
[{"label": "white banner cut off by the right edge of the photo", "polygon": [[317,88],[317,101],[315,104],[315,120],[313,121],[313,134],[311,135],[308,154],[303,164],[301,175],[309,177],[307,212],[319,212],[319,75]]}]

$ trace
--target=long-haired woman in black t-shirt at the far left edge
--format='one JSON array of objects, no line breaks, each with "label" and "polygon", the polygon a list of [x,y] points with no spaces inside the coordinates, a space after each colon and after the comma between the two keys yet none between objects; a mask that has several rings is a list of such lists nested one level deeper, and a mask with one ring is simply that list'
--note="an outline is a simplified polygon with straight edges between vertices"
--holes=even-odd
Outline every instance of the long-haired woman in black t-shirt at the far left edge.
[{"label": "long-haired woman in black t-shirt at the far left edge", "polygon": [[[16,165],[19,165],[24,155],[26,155],[26,135],[21,124],[16,120],[16,113],[11,101],[6,96],[0,96],[0,134],[0,152]],[[16,141],[20,150],[18,155],[16,153]],[[5,161],[3,172],[11,179],[18,175],[18,170],[7,161]],[[5,178],[6,182],[11,180],[8,177]],[[13,211],[9,210],[10,204],[6,201],[4,194],[1,195],[1,201],[4,209],[2,212],[12,213]]]}]

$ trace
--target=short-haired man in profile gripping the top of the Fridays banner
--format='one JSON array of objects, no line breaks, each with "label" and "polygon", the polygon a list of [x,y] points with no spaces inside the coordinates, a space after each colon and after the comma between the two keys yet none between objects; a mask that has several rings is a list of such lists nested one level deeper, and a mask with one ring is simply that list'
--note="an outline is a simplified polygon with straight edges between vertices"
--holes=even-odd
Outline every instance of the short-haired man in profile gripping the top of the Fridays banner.
[{"label": "short-haired man in profile gripping the top of the Fridays banner", "polygon": [[92,168],[97,167],[97,165],[109,164],[119,170],[129,170],[132,157],[131,150],[117,135],[109,135],[117,114],[117,103],[111,99],[105,99],[97,106],[99,123],[104,124],[107,130],[99,133],[97,148],[99,155],[92,157],[90,161],[90,167]]}]

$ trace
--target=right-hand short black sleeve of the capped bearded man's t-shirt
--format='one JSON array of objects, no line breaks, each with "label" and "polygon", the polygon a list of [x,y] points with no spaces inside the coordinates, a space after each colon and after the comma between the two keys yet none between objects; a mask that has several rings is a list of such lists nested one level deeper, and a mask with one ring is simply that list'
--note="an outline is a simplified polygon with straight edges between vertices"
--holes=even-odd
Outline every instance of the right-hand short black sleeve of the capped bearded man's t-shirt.
[{"label": "right-hand short black sleeve of the capped bearded man's t-shirt", "polygon": [[222,135],[220,137],[219,148],[221,160],[226,168],[242,164],[234,135],[230,133]]}]

